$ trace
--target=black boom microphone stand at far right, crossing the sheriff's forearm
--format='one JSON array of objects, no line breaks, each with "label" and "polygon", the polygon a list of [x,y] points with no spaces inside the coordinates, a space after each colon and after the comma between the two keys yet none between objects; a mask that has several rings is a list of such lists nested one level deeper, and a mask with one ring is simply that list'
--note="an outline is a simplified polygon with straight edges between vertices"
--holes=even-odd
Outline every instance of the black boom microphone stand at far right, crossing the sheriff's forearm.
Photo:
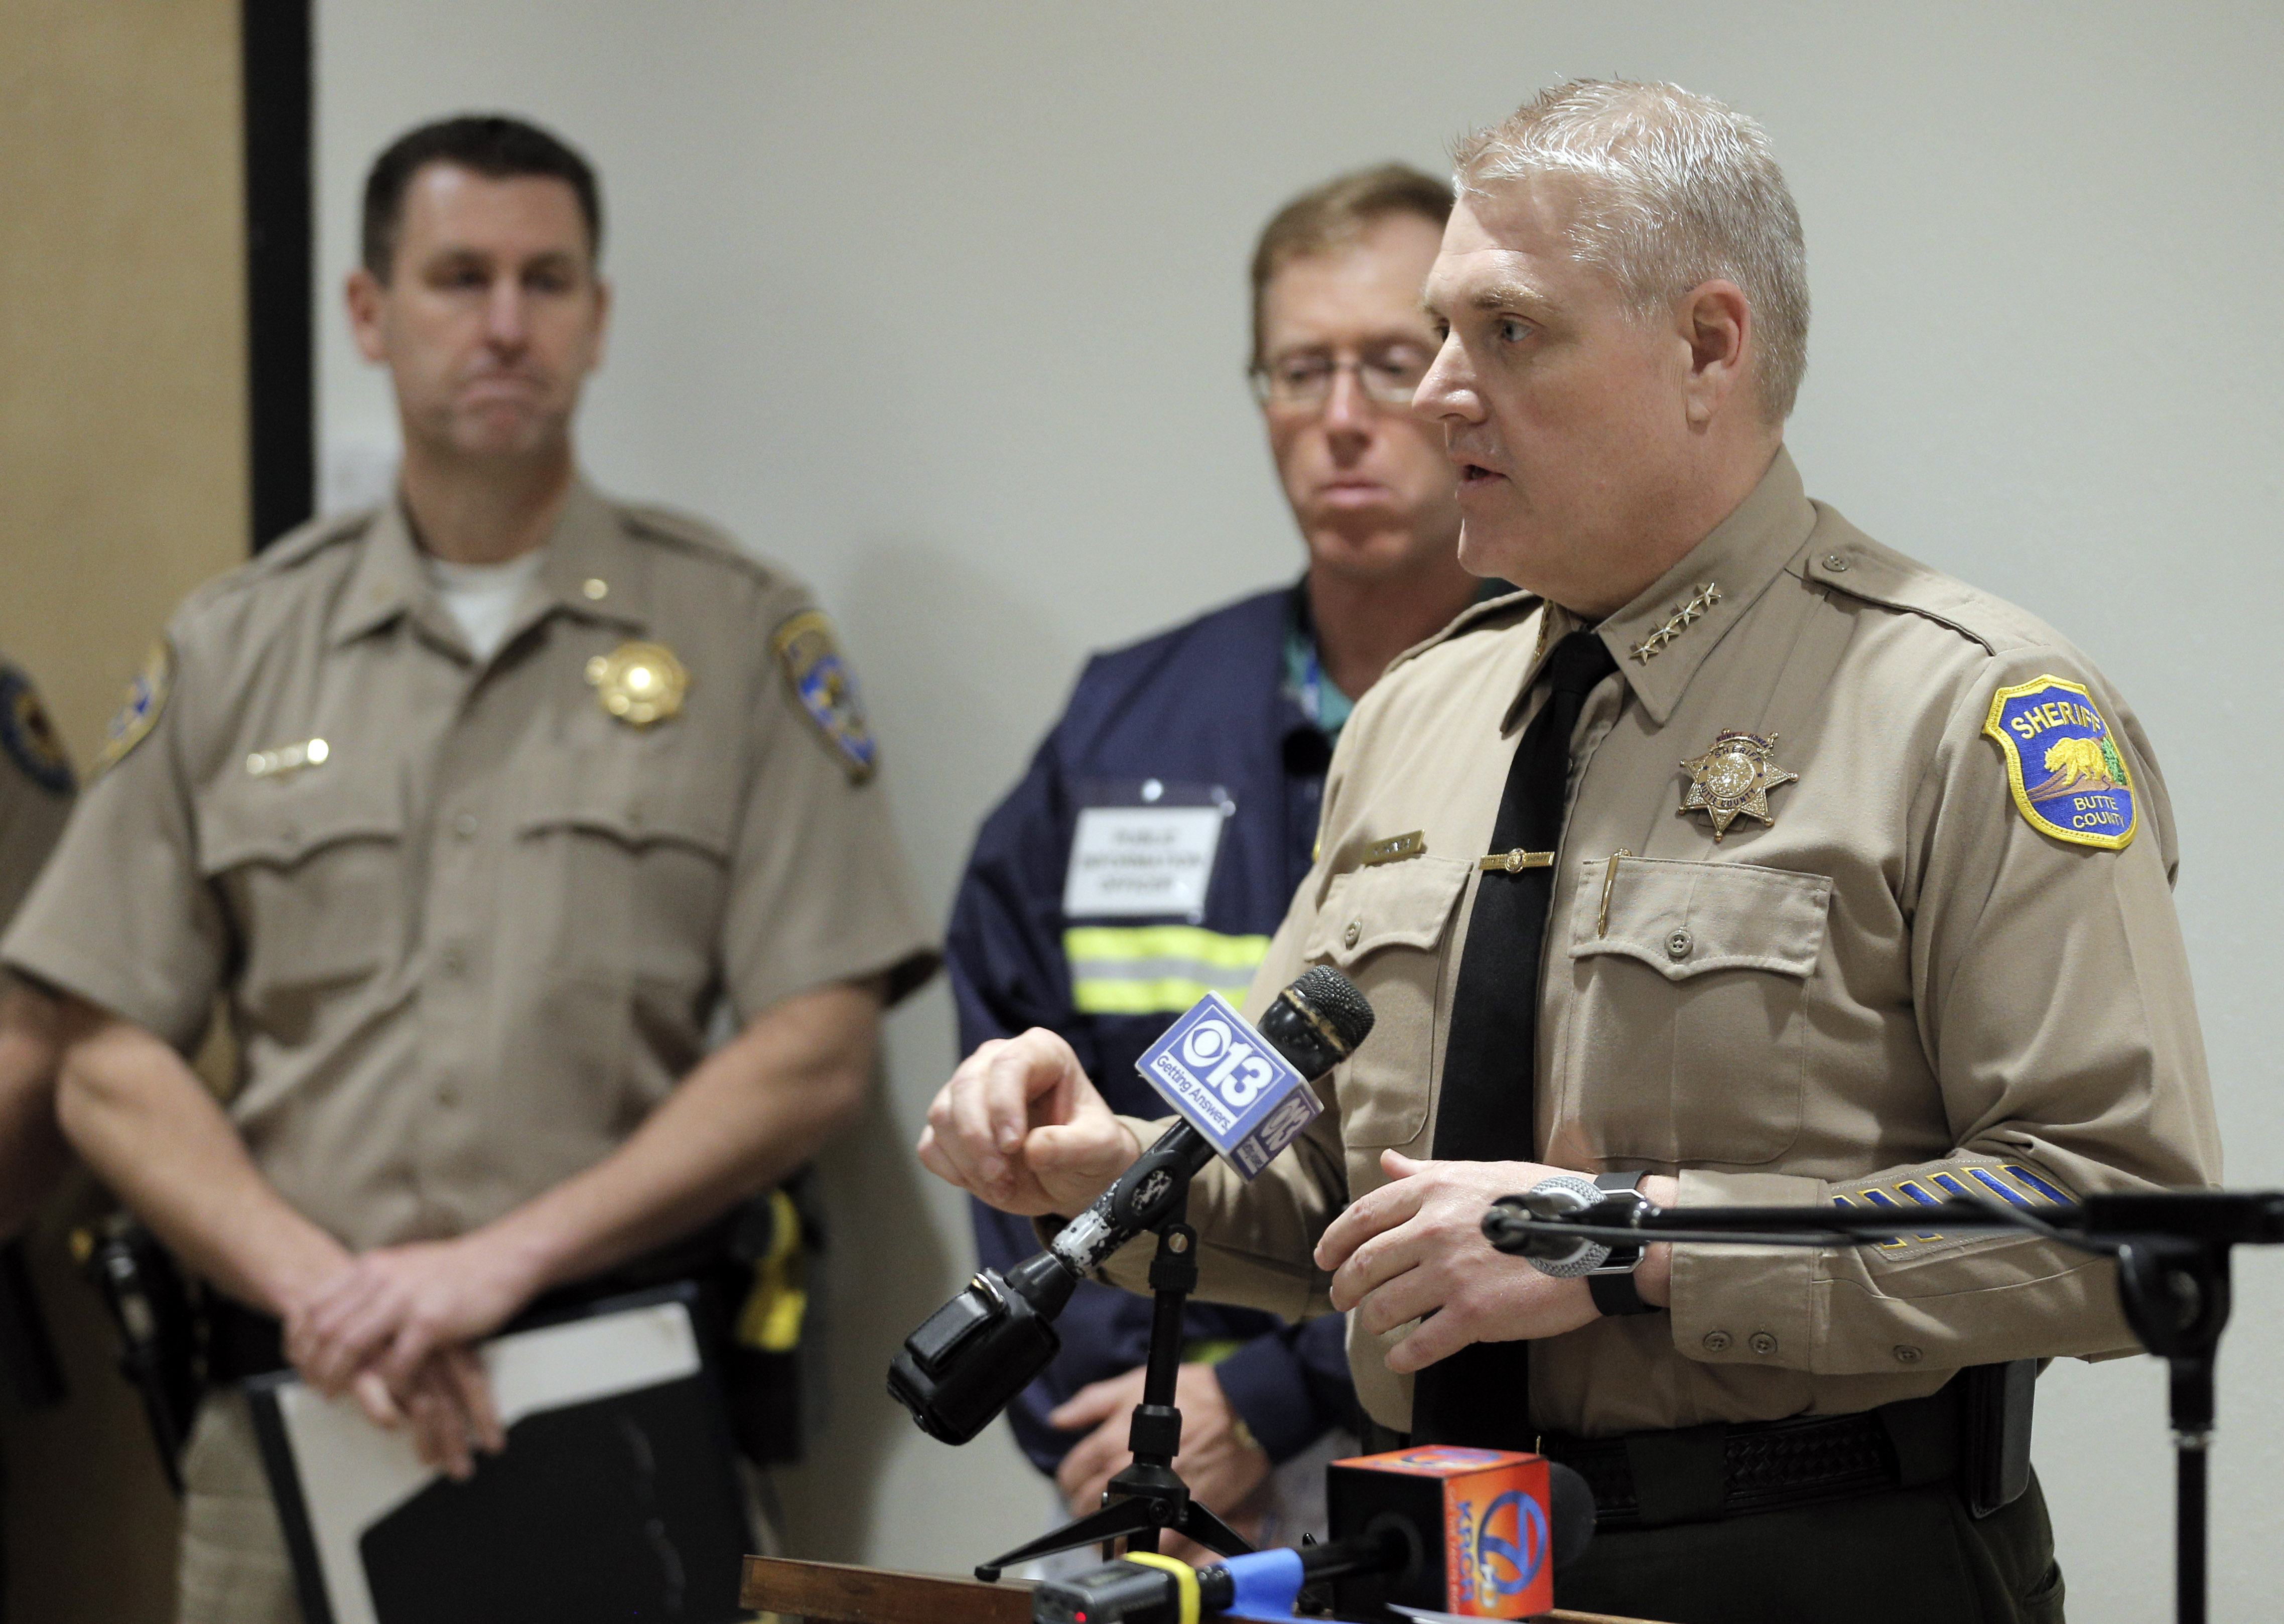
[{"label": "black boom microphone stand at far right, crossing the sheriff's forearm", "polygon": [[[1909,1222],[1898,1224],[1898,1217]],[[1576,1222],[1571,1222],[1576,1220]],[[2174,1617],[2206,1617],[2206,1460],[2213,1441],[2213,1364],[2229,1322],[2229,1249],[2284,1245],[2284,1192],[2181,1190],[2092,1195],[2030,1208],[1935,1201],[1898,1211],[1818,1206],[1649,1208],[1599,1201],[1558,1213],[1533,1197],[1501,1197],[1482,1233],[1514,1256],[1558,1259],[1581,1240],[1644,1245],[1859,1247],[1898,1233],[2033,1233],[2117,1259],[2126,1325],[2170,1375],[2174,1446]]]}]

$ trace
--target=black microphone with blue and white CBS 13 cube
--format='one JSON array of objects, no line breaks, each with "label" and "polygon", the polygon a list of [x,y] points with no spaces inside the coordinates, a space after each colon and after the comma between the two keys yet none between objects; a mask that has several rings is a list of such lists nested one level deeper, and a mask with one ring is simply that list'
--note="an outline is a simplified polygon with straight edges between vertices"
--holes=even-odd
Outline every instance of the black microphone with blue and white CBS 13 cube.
[{"label": "black microphone with blue and white CBS 13 cube", "polygon": [[1254,1028],[1206,994],[1135,1062],[1181,1121],[1073,1217],[1046,1252],[982,1270],[927,1316],[888,1366],[888,1393],[934,1439],[966,1444],[1062,1350],[1055,1316],[1103,1259],[1165,1222],[1215,1153],[1252,1181],[1322,1112],[1311,1083],[1373,1030],[1373,1005],[1316,966]]}]

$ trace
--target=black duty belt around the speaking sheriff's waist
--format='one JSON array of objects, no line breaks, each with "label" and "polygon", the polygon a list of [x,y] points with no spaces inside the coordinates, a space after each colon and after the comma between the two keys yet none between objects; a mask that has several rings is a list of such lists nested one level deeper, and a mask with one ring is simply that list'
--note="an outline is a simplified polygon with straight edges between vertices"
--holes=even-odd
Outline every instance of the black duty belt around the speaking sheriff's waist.
[{"label": "black duty belt around the speaking sheriff's waist", "polygon": [[1597,1528],[1665,1528],[1941,1482],[1960,1464],[1960,1414],[1946,1389],[1855,1416],[1546,1434],[1539,1453],[1585,1478]]}]

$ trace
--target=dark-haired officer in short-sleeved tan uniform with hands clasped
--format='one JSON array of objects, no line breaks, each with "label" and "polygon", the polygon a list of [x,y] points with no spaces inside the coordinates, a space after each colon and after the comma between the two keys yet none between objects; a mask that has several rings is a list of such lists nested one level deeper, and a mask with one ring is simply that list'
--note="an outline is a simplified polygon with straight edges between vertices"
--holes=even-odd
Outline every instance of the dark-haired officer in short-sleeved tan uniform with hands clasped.
[{"label": "dark-haired officer in short-sleeved tan uniform with hands clasped", "polygon": [[[473,1345],[799,1167],[932,966],[809,594],[576,473],[598,242],[525,123],[375,162],[397,500],[176,612],[5,943],[69,998],[73,1142],[242,1304],[219,1373],[290,1361],[457,1476],[502,1446]],[[226,1106],[183,1064],[217,994]],[[183,1617],[295,1617],[240,1389],[185,1482]]]}]

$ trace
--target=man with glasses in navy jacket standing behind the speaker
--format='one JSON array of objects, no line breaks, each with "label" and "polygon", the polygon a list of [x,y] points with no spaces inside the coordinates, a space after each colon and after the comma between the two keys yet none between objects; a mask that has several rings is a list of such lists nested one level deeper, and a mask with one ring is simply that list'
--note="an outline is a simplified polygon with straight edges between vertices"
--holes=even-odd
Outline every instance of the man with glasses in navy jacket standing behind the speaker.
[{"label": "man with glasses in navy jacket standing behind the speaker", "polygon": [[[1386,164],[1304,192],[1261,233],[1252,379],[1309,571],[1089,660],[959,886],[962,1051],[1051,1028],[1115,1110],[1156,1117],[1135,1058],[1208,989],[1245,996],[1309,870],[1350,706],[1482,587],[1457,562],[1441,439],[1409,416],[1448,215],[1441,180]],[[996,1268],[1037,1249],[1026,1220],[982,1204],[975,1245]],[[1010,1416],[1076,1514],[1128,1460],[1149,1300],[1080,1286],[1060,1329]],[[1320,1521],[1316,1446],[1354,1425],[1341,1316],[1288,1327],[1197,1304],[1185,1352],[1183,1478],[1242,1533],[1297,1539]]]}]

